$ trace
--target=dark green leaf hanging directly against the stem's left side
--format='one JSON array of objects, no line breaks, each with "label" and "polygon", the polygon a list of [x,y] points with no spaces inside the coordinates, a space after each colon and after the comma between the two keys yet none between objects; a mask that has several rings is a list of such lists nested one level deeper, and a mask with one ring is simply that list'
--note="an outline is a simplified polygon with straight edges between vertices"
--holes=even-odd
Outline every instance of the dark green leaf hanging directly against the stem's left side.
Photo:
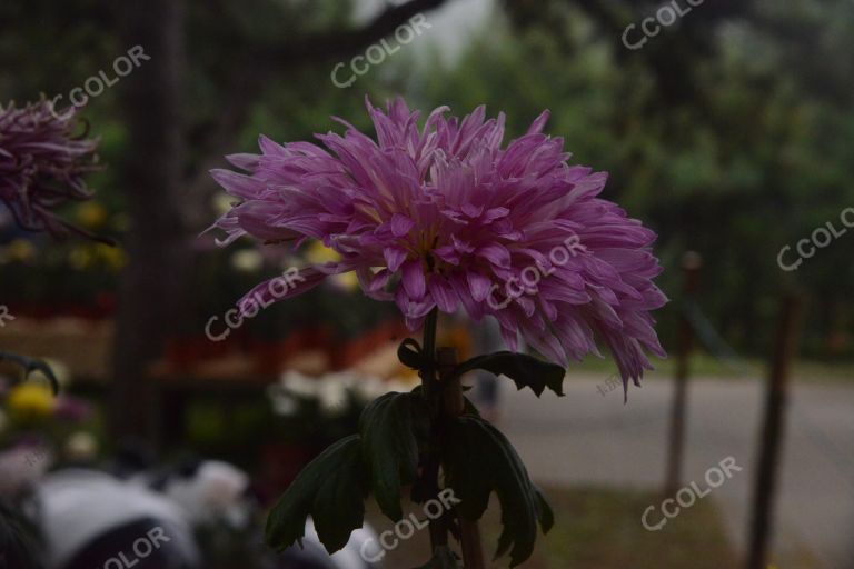
[{"label": "dark green leaf hanging directly against the stem's left side", "polygon": [[418,440],[429,432],[427,403],[420,393],[387,393],[365,408],[359,432],[374,497],[383,513],[400,521],[400,487],[415,481]]}]

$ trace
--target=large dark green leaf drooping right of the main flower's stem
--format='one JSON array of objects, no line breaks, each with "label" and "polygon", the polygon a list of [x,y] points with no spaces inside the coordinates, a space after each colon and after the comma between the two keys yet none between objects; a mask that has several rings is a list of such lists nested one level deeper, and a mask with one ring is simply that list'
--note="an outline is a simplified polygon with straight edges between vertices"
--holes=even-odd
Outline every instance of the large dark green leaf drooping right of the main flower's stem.
[{"label": "large dark green leaf drooping right of the main flower's stem", "polygon": [[450,429],[446,455],[447,483],[460,503],[458,513],[469,520],[483,517],[493,491],[502,505],[504,529],[496,557],[510,552],[510,566],[530,557],[537,538],[554,523],[552,509],[507,438],[487,421],[459,417]]}]

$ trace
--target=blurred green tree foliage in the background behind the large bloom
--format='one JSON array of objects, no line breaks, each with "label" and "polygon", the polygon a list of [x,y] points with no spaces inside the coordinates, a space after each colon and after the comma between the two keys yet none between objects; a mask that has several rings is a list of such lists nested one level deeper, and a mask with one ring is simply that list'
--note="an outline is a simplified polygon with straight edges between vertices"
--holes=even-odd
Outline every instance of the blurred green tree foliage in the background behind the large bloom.
[{"label": "blurred green tree foliage in the background behind the large bloom", "polygon": [[[187,122],[191,140],[199,143],[191,146],[188,169],[210,159],[202,142],[234,112],[226,86],[252,64],[252,54],[278,41],[352,29],[357,23],[346,4],[189,3]],[[604,197],[661,234],[657,253],[667,269],[661,284],[673,298],[681,296],[681,254],[696,250],[705,260],[699,303],[737,349],[767,351],[777,299],[797,287],[811,297],[808,351],[823,358],[851,356],[854,230],[796,272],[783,271],[777,254],[827,221],[838,227],[840,213],[854,207],[854,3],[706,2],[642,50],[626,49],[620,40],[625,27],[639,23],[657,6],[630,0],[496,2],[483,31],[458,58],[439,57],[436,43],[443,42],[443,31],[430,30],[433,38],[419,38],[349,89],[331,84],[335,60],[281,61],[262,81],[246,84],[239,102],[250,106],[249,112],[229,148],[254,151],[259,132],[298,140],[340,129],[330,114],[365,127],[366,93],[375,102],[399,93],[425,111],[449,104],[459,114],[485,103],[490,113],[507,113],[513,136],[548,108],[547,130],[564,137],[573,160],[610,172]],[[128,48],[117,40],[115,10],[97,0],[3,2],[0,22],[9,31],[0,37],[0,99],[64,93],[108,69]],[[105,162],[120,161],[130,149],[116,93],[108,90],[93,99],[85,114],[102,139]],[[108,168],[93,186],[98,201],[120,214],[117,170]],[[212,184],[210,191],[216,192]],[[205,307],[188,329],[200,329],[199,322],[239,293],[235,286],[217,284],[235,281],[227,276],[230,253],[202,254],[210,259],[210,267],[199,271]],[[42,298],[62,287],[50,269],[29,269],[20,278]],[[112,286],[109,279],[91,282],[95,289]],[[2,292],[14,296],[12,287]],[[317,298],[302,302],[311,313]],[[661,312],[671,346],[677,311],[674,302]]]}]

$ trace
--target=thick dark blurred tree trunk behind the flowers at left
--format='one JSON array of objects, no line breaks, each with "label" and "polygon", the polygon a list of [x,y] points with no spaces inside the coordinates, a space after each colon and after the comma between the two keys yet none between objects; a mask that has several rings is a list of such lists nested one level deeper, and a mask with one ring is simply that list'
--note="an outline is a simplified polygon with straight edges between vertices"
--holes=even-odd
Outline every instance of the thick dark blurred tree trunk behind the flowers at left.
[{"label": "thick dark blurred tree trunk behind the flowers at left", "polygon": [[130,216],[129,258],[119,286],[112,361],[113,433],[121,443],[151,433],[149,365],[162,353],[183,297],[191,254],[182,216],[185,4],[182,0],[121,3],[123,47],[150,59],[119,86],[128,129],[120,177]]}]

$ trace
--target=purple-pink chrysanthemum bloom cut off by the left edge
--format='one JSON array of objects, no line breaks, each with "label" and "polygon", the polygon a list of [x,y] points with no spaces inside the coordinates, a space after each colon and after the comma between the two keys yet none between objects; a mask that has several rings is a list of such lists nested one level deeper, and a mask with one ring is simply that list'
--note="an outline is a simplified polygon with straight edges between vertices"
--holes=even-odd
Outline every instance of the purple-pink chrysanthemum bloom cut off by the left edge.
[{"label": "purple-pink chrysanthemum bloom cut off by the left edge", "polygon": [[60,117],[50,101],[17,109],[0,106],[0,200],[16,221],[31,231],[62,237],[85,233],[56,216],[54,209],[91,193],[82,177],[98,169],[97,141],[75,137],[73,112]]}]

